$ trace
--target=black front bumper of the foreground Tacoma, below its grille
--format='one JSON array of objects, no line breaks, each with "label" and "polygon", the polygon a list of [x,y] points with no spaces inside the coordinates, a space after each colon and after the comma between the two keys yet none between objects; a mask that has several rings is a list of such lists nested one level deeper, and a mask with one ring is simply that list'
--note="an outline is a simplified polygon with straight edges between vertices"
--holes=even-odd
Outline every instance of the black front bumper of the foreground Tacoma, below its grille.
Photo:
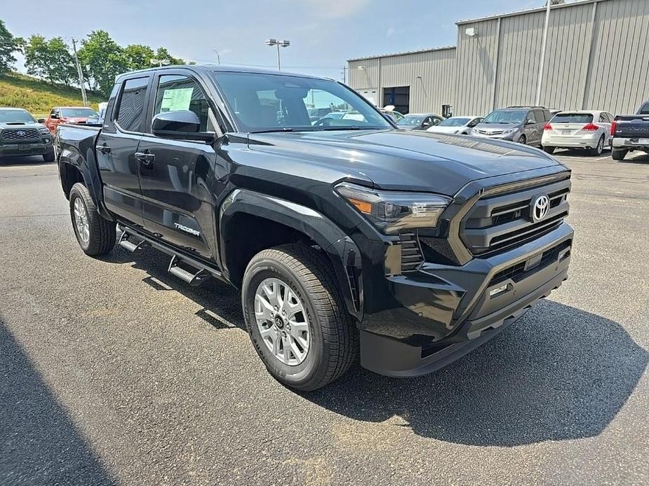
[{"label": "black front bumper of the foreground Tacoma, below its grille", "polygon": [[572,240],[572,228],[563,223],[502,254],[459,267],[425,263],[412,276],[389,277],[403,307],[366,316],[361,365],[406,377],[464,356],[561,286],[568,278]]}]

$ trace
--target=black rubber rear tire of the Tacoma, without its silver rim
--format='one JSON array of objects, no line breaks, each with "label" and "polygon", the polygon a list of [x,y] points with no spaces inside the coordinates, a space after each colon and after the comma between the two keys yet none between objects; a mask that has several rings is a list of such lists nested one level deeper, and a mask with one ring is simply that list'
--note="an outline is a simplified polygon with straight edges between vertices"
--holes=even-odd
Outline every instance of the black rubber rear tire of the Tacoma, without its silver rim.
[{"label": "black rubber rear tire of the Tacoma, without its silver rim", "polygon": [[[74,228],[74,235],[76,241],[79,242],[79,247],[86,255],[98,256],[107,254],[115,246],[116,239],[116,224],[103,218],[97,211],[95,203],[93,202],[90,193],[86,186],[77,182],[70,190],[70,218],[72,218],[72,228]],[[79,236],[79,230],[76,225],[76,218],[74,215],[74,203],[76,200],[81,200],[81,203],[86,208],[88,216],[89,237],[88,242],[84,242],[83,238]]]}]

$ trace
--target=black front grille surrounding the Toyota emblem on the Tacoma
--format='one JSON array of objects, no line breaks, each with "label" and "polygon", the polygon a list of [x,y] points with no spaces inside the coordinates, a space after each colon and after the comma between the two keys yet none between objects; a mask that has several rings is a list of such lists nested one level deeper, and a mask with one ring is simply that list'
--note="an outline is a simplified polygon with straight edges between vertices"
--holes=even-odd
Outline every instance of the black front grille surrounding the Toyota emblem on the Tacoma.
[{"label": "black front grille surrounding the Toyota emblem on the Tacoma", "polygon": [[[462,220],[461,238],[474,255],[486,255],[516,247],[557,228],[568,216],[570,175],[540,183],[530,181],[515,190],[487,190]],[[547,195],[547,216],[534,223],[530,203],[537,195]]]}]

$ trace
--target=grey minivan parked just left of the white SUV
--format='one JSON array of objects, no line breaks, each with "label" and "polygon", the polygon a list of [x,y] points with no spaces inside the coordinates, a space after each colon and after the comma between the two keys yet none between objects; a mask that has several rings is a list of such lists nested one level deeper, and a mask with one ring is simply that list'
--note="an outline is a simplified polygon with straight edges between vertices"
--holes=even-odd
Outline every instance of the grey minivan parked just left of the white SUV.
[{"label": "grey minivan parked just left of the white SUV", "polygon": [[550,111],[543,106],[509,106],[489,113],[471,135],[540,146],[543,127],[550,118]]}]

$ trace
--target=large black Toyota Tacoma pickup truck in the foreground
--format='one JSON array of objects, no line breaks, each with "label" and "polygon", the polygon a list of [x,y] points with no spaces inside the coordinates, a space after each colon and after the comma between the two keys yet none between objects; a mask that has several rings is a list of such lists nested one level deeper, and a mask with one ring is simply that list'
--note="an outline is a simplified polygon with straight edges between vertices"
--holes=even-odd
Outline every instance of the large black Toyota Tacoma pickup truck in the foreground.
[{"label": "large black Toyota Tacoma pickup truck in the foreground", "polygon": [[[309,109],[342,117],[309,119]],[[507,141],[399,130],[336,81],[226,67],[119,76],[102,127],[62,125],[83,251],[153,247],[241,289],[257,353],[313,390],[429,373],[567,278],[570,171]],[[214,296],[218,299],[218,296]]]}]

